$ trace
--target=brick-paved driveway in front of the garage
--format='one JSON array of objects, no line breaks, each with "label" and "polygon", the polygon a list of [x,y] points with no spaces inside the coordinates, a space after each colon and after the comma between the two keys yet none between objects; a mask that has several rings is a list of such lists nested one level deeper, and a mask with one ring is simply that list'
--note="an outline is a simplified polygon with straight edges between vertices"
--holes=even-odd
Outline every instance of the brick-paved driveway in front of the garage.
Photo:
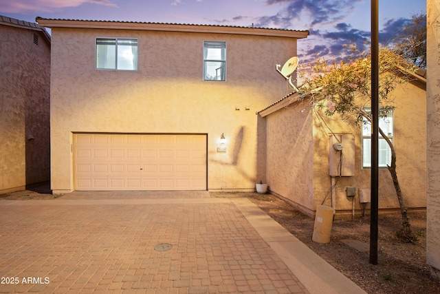
[{"label": "brick-paved driveway in front of the garage", "polygon": [[233,202],[75,193],[1,202],[0,293],[307,293]]}]

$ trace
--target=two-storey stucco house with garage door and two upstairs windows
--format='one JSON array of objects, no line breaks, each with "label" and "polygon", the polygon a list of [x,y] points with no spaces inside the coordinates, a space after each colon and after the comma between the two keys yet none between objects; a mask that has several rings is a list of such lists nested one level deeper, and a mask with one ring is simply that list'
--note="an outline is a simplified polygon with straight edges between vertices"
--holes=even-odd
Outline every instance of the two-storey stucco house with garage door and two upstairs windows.
[{"label": "two-storey stucco house with garage door and two upstairs windows", "polygon": [[52,29],[54,193],[254,191],[265,180],[255,112],[285,95],[275,65],[308,31],[36,21]]}]

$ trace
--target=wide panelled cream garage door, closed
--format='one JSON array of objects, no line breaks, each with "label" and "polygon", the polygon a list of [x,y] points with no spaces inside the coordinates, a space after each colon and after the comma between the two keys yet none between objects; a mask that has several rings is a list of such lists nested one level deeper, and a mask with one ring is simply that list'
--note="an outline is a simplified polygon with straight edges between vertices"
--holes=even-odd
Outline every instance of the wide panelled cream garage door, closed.
[{"label": "wide panelled cream garage door, closed", "polygon": [[78,191],[206,190],[206,165],[206,135],[74,135]]}]

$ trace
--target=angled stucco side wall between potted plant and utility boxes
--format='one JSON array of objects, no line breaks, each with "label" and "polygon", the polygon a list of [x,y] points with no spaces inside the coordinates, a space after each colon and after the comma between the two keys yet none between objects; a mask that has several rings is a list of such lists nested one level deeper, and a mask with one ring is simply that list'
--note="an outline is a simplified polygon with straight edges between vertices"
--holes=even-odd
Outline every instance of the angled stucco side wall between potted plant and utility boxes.
[{"label": "angled stucco side wall between potted plant and utility boxes", "polygon": [[[290,98],[287,98],[290,99]],[[299,209],[314,211],[313,114],[304,103],[293,103],[265,116],[267,184],[271,193]]]}]

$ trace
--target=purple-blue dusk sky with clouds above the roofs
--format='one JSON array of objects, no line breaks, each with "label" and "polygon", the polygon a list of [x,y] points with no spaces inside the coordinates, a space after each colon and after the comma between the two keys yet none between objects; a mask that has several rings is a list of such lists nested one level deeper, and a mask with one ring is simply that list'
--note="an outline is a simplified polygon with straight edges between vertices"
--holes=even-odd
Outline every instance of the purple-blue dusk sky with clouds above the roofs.
[{"label": "purple-blue dusk sky with clouds above the roofs", "polygon": [[[424,0],[379,0],[380,40],[387,41]],[[342,44],[369,41],[370,0],[0,0],[0,14],[35,22],[35,17],[239,25],[309,30],[298,57],[338,56]],[[282,61],[280,61],[282,62]]]}]

